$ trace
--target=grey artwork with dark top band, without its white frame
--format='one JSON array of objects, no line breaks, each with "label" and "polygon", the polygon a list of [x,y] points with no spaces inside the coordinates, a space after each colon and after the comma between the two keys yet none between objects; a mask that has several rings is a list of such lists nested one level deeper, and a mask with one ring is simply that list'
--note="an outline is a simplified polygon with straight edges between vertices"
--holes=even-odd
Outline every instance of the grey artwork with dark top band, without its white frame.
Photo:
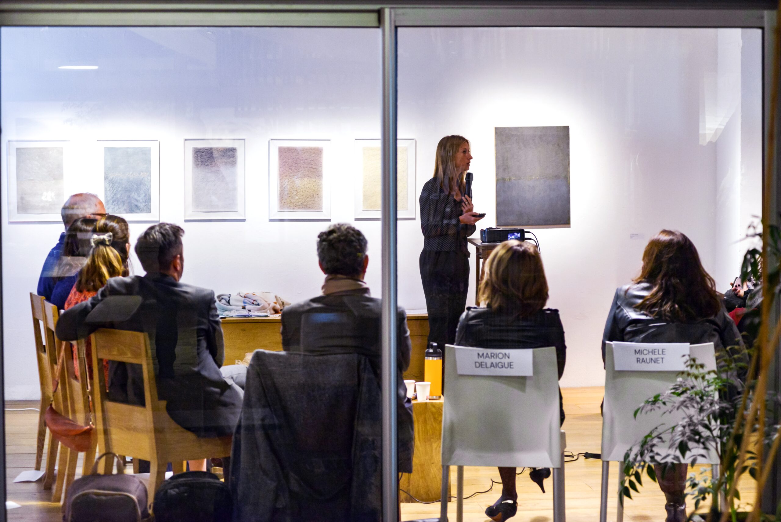
[{"label": "grey artwork with dark top band, without its white frame", "polygon": [[238,174],[236,147],[193,147],[192,210],[237,211]]}]

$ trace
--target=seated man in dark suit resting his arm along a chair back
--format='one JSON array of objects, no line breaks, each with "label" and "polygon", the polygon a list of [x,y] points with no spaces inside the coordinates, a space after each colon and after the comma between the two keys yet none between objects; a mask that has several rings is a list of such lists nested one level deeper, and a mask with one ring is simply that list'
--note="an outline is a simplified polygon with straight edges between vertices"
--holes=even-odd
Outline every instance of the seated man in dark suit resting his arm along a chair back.
[{"label": "seated man in dark suit resting his arm along a chair back", "polygon": [[[232,434],[243,392],[220,373],[225,357],[223,330],[214,292],[180,283],[184,270],[181,227],[159,223],[138,238],[135,250],[144,277],[113,277],[89,301],[59,317],[65,341],[98,328],[149,334],[159,398],[181,427],[198,437]],[[109,398],[144,403],[140,367],[112,363]]]}]

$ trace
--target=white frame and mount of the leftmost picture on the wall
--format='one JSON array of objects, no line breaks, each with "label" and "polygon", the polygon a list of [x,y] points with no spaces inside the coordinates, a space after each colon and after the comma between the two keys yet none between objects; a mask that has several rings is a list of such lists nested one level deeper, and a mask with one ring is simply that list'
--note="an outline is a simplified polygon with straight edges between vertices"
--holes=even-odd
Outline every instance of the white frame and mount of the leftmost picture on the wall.
[{"label": "white frame and mount of the leftmost picture on the wall", "polygon": [[[24,168],[20,167],[20,163],[25,165],[30,164],[30,161],[26,158],[29,153],[26,151],[23,156],[20,153],[20,149],[36,148],[62,148],[61,180],[59,183],[56,179],[51,181],[51,189],[46,189],[41,194],[41,199],[45,201],[45,203],[41,205],[36,205],[36,202],[32,201],[26,193],[29,191],[41,190],[41,186],[44,186],[47,181],[31,180],[22,183],[20,186],[18,179],[19,173],[17,173],[17,168]],[[41,153],[43,152],[41,151]],[[23,157],[20,158],[20,156]],[[33,159],[32,163],[40,162]],[[7,166],[9,223],[62,223],[60,209],[62,209],[62,204],[65,202],[66,198],[71,194],[69,176],[70,141],[9,140]],[[37,185],[37,187],[35,185]],[[44,208],[46,206],[48,206],[48,208]]]}]

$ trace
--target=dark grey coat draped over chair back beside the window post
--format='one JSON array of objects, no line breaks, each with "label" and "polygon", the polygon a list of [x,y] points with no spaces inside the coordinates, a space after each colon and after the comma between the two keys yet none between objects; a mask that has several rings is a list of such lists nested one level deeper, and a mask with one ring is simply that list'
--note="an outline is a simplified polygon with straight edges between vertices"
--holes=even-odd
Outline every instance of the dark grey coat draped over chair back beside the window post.
[{"label": "dark grey coat draped over chair back beside the window post", "polygon": [[366,356],[256,350],[234,433],[236,522],[380,522],[380,385]]}]

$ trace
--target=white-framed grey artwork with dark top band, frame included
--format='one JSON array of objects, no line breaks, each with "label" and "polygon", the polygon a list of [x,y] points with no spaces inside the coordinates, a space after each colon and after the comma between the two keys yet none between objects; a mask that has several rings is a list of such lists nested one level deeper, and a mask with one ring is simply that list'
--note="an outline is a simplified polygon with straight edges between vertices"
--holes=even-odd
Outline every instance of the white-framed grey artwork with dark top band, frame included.
[{"label": "white-framed grey artwork with dark top band, frame included", "polygon": [[244,140],[184,140],[184,219],[244,220]]}]

